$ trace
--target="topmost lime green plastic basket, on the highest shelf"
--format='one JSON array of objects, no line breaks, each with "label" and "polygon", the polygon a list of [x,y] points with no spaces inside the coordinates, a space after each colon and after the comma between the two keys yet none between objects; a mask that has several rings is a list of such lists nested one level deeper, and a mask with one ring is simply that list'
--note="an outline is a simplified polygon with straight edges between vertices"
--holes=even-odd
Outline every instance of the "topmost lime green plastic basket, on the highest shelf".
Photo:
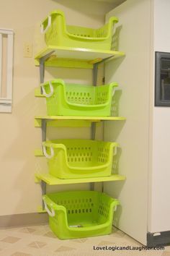
[{"label": "topmost lime green plastic basket, on the highest shelf", "polygon": [[41,23],[41,33],[45,34],[48,46],[110,50],[113,26],[117,22],[117,17],[111,17],[99,29],[71,26],[66,25],[64,13],[56,10]]}]

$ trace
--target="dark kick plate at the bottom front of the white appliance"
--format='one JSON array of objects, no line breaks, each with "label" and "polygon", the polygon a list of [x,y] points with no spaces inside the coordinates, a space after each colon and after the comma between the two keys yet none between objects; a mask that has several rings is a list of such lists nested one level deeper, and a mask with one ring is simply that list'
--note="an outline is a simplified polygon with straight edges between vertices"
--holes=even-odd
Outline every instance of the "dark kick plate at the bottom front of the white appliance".
[{"label": "dark kick plate at the bottom front of the white appliance", "polygon": [[156,247],[156,246],[166,246],[170,245],[170,231],[163,231],[158,233],[149,233],[147,234],[147,246]]}]

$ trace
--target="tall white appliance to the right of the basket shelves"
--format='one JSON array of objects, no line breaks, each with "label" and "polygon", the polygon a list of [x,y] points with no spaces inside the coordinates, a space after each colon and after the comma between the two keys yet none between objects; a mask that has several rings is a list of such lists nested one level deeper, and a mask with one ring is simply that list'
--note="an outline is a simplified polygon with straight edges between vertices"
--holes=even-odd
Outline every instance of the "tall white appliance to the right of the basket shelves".
[{"label": "tall white appliance to the right of the basket shelves", "polygon": [[106,82],[121,91],[124,124],[104,124],[104,140],[120,143],[119,173],[125,182],[104,184],[122,207],[115,225],[142,244],[170,243],[170,108],[155,106],[155,51],[170,52],[170,1],[127,0],[107,14],[119,17],[124,59],[105,64]]}]

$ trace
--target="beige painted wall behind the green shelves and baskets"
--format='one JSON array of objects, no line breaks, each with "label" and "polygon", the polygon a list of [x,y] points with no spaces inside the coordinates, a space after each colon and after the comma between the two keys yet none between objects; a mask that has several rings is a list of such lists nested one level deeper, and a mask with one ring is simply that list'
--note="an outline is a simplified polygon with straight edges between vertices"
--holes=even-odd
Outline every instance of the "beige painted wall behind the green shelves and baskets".
[{"label": "beige painted wall behind the green shelves and baskets", "polygon": [[[3,2],[3,3],[2,3]],[[45,103],[34,98],[39,84],[39,69],[33,57],[23,57],[24,43],[33,44],[36,53],[39,22],[53,9],[62,9],[68,23],[98,27],[104,22],[109,4],[92,1],[6,0],[0,3],[0,24],[14,29],[14,83],[12,114],[0,114],[0,216],[37,211],[41,202],[40,185],[35,184],[35,169],[40,166],[33,153],[40,147],[41,132],[34,127],[35,114],[45,113]],[[48,69],[45,80],[60,77],[67,81],[91,83],[90,70]],[[52,138],[89,137],[89,129],[53,129]],[[50,132],[48,131],[48,137]],[[51,138],[51,137],[50,137]],[[45,166],[45,164],[44,164]],[[44,167],[45,168],[45,167]],[[61,186],[56,189],[84,189],[87,185]],[[53,187],[54,189],[54,187]]]}]

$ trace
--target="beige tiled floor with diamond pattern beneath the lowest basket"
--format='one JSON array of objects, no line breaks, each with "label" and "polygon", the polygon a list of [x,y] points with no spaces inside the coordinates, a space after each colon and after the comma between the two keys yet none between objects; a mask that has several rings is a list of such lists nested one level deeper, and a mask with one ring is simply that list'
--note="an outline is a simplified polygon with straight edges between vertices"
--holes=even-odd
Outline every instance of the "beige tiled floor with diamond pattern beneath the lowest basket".
[{"label": "beige tiled floor with diamond pattern beneath the lowest basket", "polygon": [[[59,240],[48,225],[0,229],[0,256],[91,256],[91,255],[163,255],[170,256],[170,246],[164,250],[117,250],[114,247],[142,245],[119,230],[108,236]],[[107,250],[98,250],[107,247]]]}]

